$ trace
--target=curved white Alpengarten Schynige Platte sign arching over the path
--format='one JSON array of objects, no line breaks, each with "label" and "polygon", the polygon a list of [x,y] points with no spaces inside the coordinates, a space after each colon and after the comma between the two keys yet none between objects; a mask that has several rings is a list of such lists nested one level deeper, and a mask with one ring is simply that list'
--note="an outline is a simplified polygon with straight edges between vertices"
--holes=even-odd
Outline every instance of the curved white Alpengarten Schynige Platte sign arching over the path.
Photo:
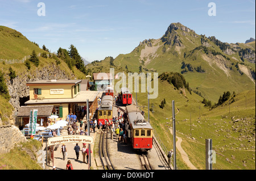
[{"label": "curved white Alpengarten Schynige Platte sign arching over the path", "polygon": [[85,144],[92,144],[93,137],[92,136],[85,136],[85,135],[67,135],[67,136],[55,136],[48,138],[48,146],[57,145],[57,144],[64,144],[64,143],[85,143]]}]

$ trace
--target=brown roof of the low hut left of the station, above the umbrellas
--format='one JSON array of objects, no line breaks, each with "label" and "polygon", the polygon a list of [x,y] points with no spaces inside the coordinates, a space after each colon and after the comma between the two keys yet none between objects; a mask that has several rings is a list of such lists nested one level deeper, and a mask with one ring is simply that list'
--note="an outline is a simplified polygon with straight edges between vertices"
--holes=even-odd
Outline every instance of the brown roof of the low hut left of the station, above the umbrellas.
[{"label": "brown roof of the low hut left of the station, above the umbrellas", "polygon": [[17,117],[30,117],[30,110],[38,110],[38,117],[48,117],[52,115],[53,106],[22,106]]}]

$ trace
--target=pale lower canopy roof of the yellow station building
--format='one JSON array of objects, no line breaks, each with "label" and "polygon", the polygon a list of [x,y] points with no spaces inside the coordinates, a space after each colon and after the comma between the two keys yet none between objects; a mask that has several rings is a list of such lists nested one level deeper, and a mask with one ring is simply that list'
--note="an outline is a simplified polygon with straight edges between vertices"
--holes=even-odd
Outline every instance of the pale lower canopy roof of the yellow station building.
[{"label": "pale lower canopy roof of the yellow station building", "polygon": [[69,99],[31,99],[28,100],[25,104],[50,104],[50,103],[86,103],[86,100],[89,99],[89,102],[94,102],[97,99],[98,91],[80,91],[75,98]]}]

